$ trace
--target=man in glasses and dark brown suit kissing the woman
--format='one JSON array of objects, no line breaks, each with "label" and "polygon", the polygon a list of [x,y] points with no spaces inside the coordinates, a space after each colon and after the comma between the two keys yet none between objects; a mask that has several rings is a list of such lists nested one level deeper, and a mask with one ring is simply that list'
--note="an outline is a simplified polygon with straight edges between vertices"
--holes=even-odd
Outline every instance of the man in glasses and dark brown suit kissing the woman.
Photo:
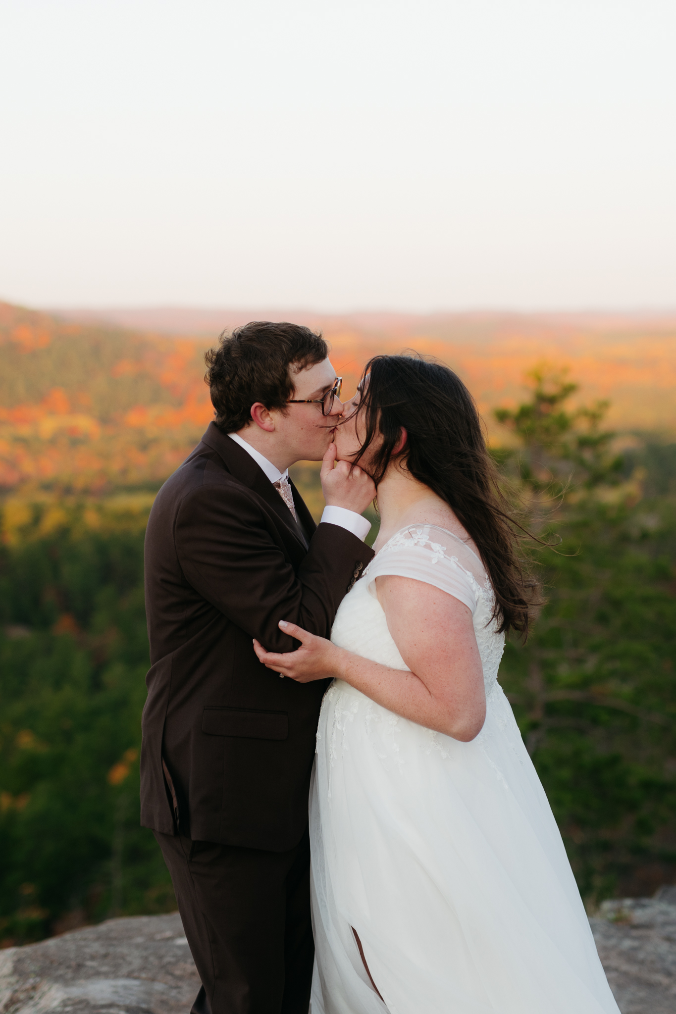
[{"label": "man in glasses and dark brown suit kissing the woman", "polygon": [[[308,790],[325,682],[280,678],[252,640],[327,637],[373,556],[375,489],[333,467],[343,405],[325,342],[253,322],[207,354],[215,420],[157,495],[146,534],[151,668],[141,822],[171,874],[202,988],[192,1014],[307,1014],[314,947]],[[316,526],[289,481],[319,460]]]}]

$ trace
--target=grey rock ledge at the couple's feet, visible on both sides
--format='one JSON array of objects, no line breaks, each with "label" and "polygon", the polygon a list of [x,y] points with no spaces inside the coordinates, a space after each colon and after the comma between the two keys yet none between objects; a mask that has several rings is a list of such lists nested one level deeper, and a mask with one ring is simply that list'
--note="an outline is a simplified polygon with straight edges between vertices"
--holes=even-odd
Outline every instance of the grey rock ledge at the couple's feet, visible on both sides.
[{"label": "grey rock ledge at the couple's feet, visible on both sides", "polygon": [[[605,901],[591,924],[622,1014],[674,1014],[676,887]],[[199,988],[177,913],[0,951],[0,1014],[187,1014]]]}]

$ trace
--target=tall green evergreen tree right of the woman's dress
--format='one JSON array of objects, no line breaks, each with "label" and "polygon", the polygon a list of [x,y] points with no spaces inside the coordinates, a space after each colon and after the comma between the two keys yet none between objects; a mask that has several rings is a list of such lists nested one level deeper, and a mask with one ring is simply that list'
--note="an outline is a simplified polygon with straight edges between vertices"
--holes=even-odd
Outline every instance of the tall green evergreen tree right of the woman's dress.
[{"label": "tall green evergreen tree right of the woman's dress", "polygon": [[569,408],[560,371],[528,379],[496,412],[520,442],[501,457],[555,548],[531,549],[546,604],[501,680],[583,893],[646,893],[676,876],[674,502],[621,482],[607,403]]}]

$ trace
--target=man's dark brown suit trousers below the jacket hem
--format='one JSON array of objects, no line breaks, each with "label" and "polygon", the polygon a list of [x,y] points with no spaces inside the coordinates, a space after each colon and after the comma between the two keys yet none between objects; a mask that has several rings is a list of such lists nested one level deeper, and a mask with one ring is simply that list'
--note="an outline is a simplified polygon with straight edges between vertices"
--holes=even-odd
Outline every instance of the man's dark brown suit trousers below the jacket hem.
[{"label": "man's dark brown suit trousers below the jacket hem", "polygon": [[191,1014],[307,1014],[314,962],[307,830],[288,852],[155,838],[203,984]]}]

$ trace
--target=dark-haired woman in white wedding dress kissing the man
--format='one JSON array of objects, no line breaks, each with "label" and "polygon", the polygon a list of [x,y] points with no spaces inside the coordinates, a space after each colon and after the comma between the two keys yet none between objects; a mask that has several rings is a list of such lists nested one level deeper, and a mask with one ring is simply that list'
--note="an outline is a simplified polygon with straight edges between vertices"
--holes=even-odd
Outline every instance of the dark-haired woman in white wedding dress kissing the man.
[{"label": "dark-haired woman in white wedding dress kissing the man", "polygon": [[312,1014],[618,1014],[546,796],[497,682],[529,581],[472,399],[377,356],[335,431],[381,527],[331,640],[256,653],[333,677],[310,797]]}]

